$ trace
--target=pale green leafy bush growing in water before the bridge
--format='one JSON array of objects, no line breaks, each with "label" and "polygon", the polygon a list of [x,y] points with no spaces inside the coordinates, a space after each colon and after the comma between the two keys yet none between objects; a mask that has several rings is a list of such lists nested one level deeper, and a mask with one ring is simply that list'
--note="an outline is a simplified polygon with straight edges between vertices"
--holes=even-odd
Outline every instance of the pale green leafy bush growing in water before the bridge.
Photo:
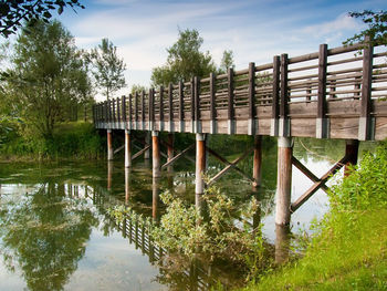
[{"label": "pale green leafy bush growing in water before the bridge", "polygon": [[[259,209],[255,198],[239,210],[213,186],[206,189],[201,208],[186,205],[170,193],[160,198],[167,206],[166,214],[151,232],[160,247],[190,259],[198,254],[210,261],[222,258],[242,268],[247,277],[257,276],[268,264],[261,226],[253,229],[249,222]],[[241,222],[236,224],[232,212]]]}]

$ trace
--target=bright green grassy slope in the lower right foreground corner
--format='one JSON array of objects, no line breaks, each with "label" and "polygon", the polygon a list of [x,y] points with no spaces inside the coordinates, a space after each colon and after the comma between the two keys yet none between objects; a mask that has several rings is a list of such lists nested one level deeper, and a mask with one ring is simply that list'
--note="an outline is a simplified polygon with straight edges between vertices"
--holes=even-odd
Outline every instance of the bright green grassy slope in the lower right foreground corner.
[{"label": "bright green grassy slope in the lower right foreground corner", "polygon": [[387,146],[333,188],[332,209],[300,260],[247,290],[387,290]]}]

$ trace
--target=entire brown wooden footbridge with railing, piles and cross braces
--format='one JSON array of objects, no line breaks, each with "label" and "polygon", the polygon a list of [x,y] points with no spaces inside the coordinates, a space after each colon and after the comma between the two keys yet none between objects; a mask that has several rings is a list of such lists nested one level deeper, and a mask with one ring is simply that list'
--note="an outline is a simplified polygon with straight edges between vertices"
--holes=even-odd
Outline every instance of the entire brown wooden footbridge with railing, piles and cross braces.
[{"label": "entire brown wooden footbridge with railing, piles and cross braces", "polygon": [[[261,136],[279,137],[278,225],[290,222],[295,211],[328,177],[344,165],[356,164],[358,141],[387,137],[387,52],[365,44],[328,49],[289,58],[275,55],[263,65],[227,74],[169,84],[98,103],[93,107],[96,128],[107,129],[108,159],[113,159],[112,131],[125,129],[125,166],[132,166],[130,131],[153,134],[154,177],[160,174],[159,132],[168,132],[168,160],[174,157],[172,134],[195,133],[196,194],[206,187],[202,173],[206,152],[237,169],[238,162],[254,152],[252,177],[241,173],[253,185],[260,185]],[[248,134],[254,147],[240,158],[228,162],[206,146],[206,134]],[[345,156],[318,178],[292,155],[292,137],[347,139]],[[144,147],[148,150],[150,144]],[[140,153],[142,154],[142,153]],[[184,155],[185,152],[181,153]],[[292,165],[310,177],[314,185],[291,204]],[[218,176],[218,175],[217,175]],[[216,178],[216,177],[213,177]]]}]

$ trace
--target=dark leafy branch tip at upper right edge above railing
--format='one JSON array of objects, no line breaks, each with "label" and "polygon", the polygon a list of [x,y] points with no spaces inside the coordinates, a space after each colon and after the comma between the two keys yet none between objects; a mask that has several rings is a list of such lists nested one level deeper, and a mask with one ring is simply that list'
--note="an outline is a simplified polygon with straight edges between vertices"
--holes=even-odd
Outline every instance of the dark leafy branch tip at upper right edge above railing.
[{"label": "dark leafy branch tip at upper right edge above railing", "polygon": [[363,43],[364,38],[369,37],[373,44],[387,45],[387,11],[380,10],[379,12],[374,12],[364,10],[363,12],[349,12],[348,15],[360,18],[368,28],[344,41],[344,44],[353,44],[354,42]]}]

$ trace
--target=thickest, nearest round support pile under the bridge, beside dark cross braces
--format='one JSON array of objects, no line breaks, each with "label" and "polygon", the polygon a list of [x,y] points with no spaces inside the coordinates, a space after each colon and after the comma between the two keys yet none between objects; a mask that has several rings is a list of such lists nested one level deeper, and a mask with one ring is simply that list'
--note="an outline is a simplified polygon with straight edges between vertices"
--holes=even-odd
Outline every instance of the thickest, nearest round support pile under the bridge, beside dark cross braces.
[{"label": "thickest, nearest round support pile under the bridge, beside dark cross braces", "polygon": [[275,224],[289,225],[292,190],[292,138],[279,137]]}]

